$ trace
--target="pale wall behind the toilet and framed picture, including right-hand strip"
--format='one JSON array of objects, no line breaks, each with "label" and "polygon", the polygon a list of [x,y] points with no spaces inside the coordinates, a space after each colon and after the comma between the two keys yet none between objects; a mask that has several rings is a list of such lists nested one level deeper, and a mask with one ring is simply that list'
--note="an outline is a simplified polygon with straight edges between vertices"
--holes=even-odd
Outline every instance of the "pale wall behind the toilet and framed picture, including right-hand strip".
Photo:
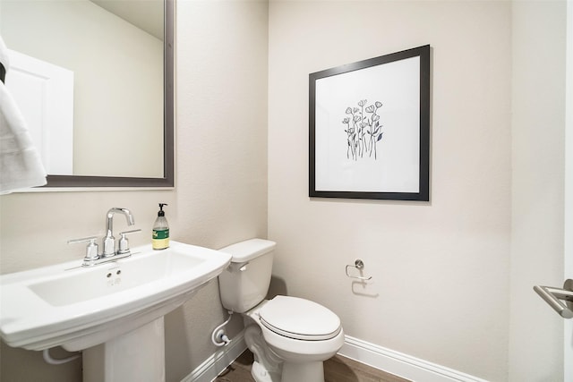
[{"label": "pale wall behind the toilet and framed picture, including right-hand strip", "polygon": [[[532,286],[562,283],[564,92],[555,85],[565,3],[514,13],[522,3],[269,3],[277,278],[337,312],[347,335],[492,381],[562,372],[560,318]],[[308,73],[425,44],[431,201],[309,199]],[[356,258],[372,284],[346,278]]]}]

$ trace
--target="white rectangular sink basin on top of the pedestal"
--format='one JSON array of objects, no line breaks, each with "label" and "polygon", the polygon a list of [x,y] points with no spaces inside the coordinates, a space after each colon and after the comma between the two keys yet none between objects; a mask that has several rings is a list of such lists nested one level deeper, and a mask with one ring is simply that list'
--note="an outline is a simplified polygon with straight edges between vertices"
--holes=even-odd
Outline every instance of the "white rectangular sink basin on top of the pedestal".
[{"label": "white rectangular sink basin on top of the pedestal", "polygon": [[93,267],[81,259],[0,276],[0,335],[29,350],[79,351],[146,325],[217,277],[230,255],[181,242]]}]

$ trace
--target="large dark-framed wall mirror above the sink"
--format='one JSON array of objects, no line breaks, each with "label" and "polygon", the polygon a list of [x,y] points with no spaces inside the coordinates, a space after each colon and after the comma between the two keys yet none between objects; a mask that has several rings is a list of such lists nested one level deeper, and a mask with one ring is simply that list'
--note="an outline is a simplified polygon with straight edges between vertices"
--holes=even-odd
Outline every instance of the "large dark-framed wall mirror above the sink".
[{"label": "large dark-framed wall mirror above the sink", "polygon": [[[0,34],[17,55],[6,87],[72,92],[13,91],[40,111],[30,134],[45,187],[174,186],[174,19],[174,0],[0,0]],[[37,63],[63,74],[18,80]]]}]

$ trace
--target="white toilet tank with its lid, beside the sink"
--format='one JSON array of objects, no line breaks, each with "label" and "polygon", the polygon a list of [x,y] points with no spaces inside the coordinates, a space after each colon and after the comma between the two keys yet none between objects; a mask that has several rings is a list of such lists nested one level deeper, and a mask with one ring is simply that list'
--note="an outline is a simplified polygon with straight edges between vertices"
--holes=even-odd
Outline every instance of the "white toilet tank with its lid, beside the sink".
[{"label": "white toilet tank with its lid, beside the sink", "polygon": [[269,240],[251,239],[220,249],[232,256],[231,264],[218,276],[225,309],[244,313],[264,300],[276,245]]}]

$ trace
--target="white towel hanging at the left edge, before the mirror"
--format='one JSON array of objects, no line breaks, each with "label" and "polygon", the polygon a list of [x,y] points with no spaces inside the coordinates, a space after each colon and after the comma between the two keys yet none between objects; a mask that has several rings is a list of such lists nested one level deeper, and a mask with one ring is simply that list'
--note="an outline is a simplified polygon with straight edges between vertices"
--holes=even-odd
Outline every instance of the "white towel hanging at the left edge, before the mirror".
[{"label": "white towel hanging at the left edge, before the mirror", "polygon": [[[0,37],[0,59],[8,78],[7,51]],[[46,184],[46,170],[30,139],[26,121],[0,81],[0,195]]]}]

